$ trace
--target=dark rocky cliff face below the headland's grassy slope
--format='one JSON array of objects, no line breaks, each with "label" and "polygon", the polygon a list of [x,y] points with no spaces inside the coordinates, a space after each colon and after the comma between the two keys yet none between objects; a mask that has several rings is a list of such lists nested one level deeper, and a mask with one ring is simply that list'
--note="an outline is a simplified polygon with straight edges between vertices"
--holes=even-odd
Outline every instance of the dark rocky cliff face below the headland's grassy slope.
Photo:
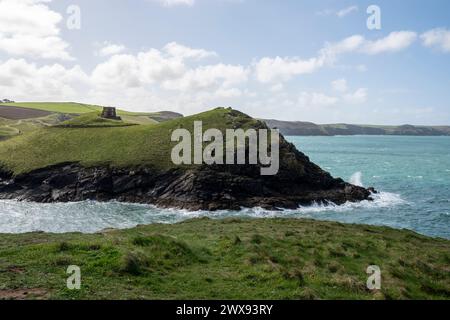
[{"label": "dark rocky cliff face below the headland's grassy slope", "polygon": [[314,202],[370,199],[370,191],[335,179],[281,138],[280,170],[261,176],[259,165],[83,167],[65,163],[13,177],[0,171],[0,198],[36,202],[118,200],[188,210],[297,208]]}]

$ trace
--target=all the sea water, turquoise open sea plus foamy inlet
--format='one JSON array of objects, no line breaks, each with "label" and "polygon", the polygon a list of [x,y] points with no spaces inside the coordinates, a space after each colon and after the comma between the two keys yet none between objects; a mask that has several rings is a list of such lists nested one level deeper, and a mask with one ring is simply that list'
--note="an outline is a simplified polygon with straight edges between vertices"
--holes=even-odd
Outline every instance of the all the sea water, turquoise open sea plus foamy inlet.
[{"label": "all the sea water, turquoise open sea plus foamy inlet", "polygon": [[96,232],[208,216],[289,217],[386,225],[450,239],[450,137],[287,137],[336,177],[380,191],[375,201],[262,209],[187,212],[117,202],[37,204],[0,200],[0,233]]}]

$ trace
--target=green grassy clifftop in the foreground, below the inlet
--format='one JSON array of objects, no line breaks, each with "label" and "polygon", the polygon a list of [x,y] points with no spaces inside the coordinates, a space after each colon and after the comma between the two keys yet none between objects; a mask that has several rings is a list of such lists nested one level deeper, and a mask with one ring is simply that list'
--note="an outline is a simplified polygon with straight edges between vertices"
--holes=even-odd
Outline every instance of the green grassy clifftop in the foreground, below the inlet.
[{"label": "green grassy clifftop in the foreground, below the inlet", "polygon": [[[66,288],[78,265],[81,290]],[[369,265],[382,289],[366,289]],[[313,220],[0,235],[0,298],[450,299],[450,241]]]}]

